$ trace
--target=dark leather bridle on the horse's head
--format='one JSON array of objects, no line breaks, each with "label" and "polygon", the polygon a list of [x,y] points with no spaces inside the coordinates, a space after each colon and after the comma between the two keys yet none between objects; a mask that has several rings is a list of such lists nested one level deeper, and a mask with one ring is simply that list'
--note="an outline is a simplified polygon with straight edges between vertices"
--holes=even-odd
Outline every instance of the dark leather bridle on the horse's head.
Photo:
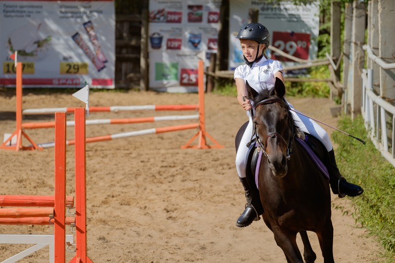
[{"label": "dark leather bridle on the horse's head", "polygon": [[[281,99],[277,99],[277,98],[268,98],[268,99],[264,99],[264,100],[262,100],[262,101],[260,101],[260,102],[258,102],[258,103],[256,104],[255,109],[257,109],[258,107],[260,107],[260,106],[262,106],[262,105],[267,105],[267,104],[271,104],[271,103],[282,103],[282,104],[284,104],[285,107],[286,107],[287,110],[288,110],[288,113],[290,114],[288,103],[286,103],[285,100],[281,100]],[[295,134],[294,134],[294,125],[293,125],[293,123],[291,123],[292,119],[289,118],[289,120],[290,120],[290,121],[289,121],[289,125],[290,125],[290,128],[291,128],[291,129],[288,130],[288,131],[289,131],[289,132],[288,132],[288,143],[287,143],[287,141],[284,139],[284,137],[281,136],[279,133],[277,133],[277,132],[271,132],[271,133],[268,133],[268,134],[267,134],[266,139],[264,140],[264,144],[263,144],[262,141],[261,141],[261,139],[259,138],[258,133],[257,133],[257,125],[256,125],[255,122],[254,122],[254,133],[255,133],[255,135],[256,135],[256,137],[257,137],[257,142],[258,142],[258,144],[259,144],[261,150],[263,151],[263,154],[264,154],[266,157],[268,157],[268,154],[267,154],[267,152],[266,152],[267,140],[268,140],[269,138],[273,138],[273,139],[274,139],[274,138],[278,137],[278,138],[281,139],[281,142],[283,142],[283,143],[287,146],[287,160],[289,160],[289,159],[291,158],[292,143],[293,143],[293,141],[294,141],[294,136],[295,136]]]}]

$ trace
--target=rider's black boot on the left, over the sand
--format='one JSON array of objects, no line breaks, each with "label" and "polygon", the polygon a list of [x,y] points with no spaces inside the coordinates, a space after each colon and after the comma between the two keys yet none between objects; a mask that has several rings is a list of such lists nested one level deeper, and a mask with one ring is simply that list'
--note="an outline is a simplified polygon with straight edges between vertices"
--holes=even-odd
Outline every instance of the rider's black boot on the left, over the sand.
[{"label": "rider's black boot on the left, over the sand", "polygon": [[239,177],[239,179],[243,185],[244,191],[246,192],[247,203],[246,209],[236,221],[236,226],[244,227],[251,225],[253,221],[258,221],[261,219],[259,216],[263,214],[263,207],[259,197],[258,189],[256,189],[256,187],[254,189],[251,188],[247,178]]}]

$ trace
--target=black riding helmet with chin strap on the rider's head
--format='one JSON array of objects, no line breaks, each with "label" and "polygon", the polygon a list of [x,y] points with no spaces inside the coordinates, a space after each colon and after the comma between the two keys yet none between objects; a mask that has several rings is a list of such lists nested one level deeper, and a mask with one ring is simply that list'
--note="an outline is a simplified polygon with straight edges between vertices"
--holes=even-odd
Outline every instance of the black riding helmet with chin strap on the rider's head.
[{"label": "black riding helmet with chin strap on the rider's head", "polygon": [[[240,29],[239,34],[237,34],[238,39],[251,39],[255,40],[258,42],[258,49],[261,44],[265,44],[266,47],[269,46],[269,41],[270,41],[270,34],[269,31],[265,26],[259,23],[250,23],[247,26],[243,27]],[[243,56],[244,57],[244,56]],[[254,61],[249,62],[246,57],[244,57],[244,60],[246,64],[251,68],[252,64],[254,62],[260,60],[262,56],[258,58],[258,53],[257,57],[254,59]]]}]

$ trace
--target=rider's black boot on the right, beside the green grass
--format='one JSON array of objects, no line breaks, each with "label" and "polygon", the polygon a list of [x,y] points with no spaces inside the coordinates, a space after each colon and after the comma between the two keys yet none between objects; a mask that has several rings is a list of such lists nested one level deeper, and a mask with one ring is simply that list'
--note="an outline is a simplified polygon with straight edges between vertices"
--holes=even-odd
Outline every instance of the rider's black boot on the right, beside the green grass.
[{"label": "rider's black boot on the right, beside the green grass", "polygon": [[338,194],[340,198],[348,196],[357,196],[363,193],[360,186],[351,184],[340,174],[339,168],[336,164],[335,151],[329,151],[329,165],[327,166],[329,172],[329,184],[332,192]]}]

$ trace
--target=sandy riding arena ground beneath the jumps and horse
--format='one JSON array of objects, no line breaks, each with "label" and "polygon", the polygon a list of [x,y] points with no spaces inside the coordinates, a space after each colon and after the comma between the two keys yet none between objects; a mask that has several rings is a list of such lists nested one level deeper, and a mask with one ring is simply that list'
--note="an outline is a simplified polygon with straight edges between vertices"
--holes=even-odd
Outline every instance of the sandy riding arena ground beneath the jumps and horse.
[{"label": "sandy riding arena ground beneath the jumps and horse", "polygon": [[[15,130],[15,91],[0,90],[0,135]],[[91,92],[91,106],[197,104],[197,94]],[[296,109],[336,125],[328,99],[288,98]],[[87,145],[88,255],[95,263],[283,263],[284,255],[263,221],[238,228],[244,191],[237,178],[234,136],[246,121],[233,97],[206,94],[206,130],[223,149],[180,150],[196,130],[144,135]],[[32,94],[24,90],[23,108],[84,107],[71,94]],[[191,112],[91,113],[88,119],[132,118]],[[68,119],[72,119],[69,115]],[[53,115],[24,117],[24,122],[50,121]],[[87,136],[114,134],[195,121],[123,125],[90,125]],[[54,140],[53,129],[25,130],[36,142]],[[331,132],[328,130],[328,132]],[[73,139],[69,127],[67,138]],[[23,140],[27,145],[27,140]],[[194,145],[197,142],[194,142]],[[209,144],[213,144],[208,139]],[[51,195],[54,190],[53,148],[0,150],[0,194]],[[347,177],[347,175],[346,175]],[[365,189],[368,190],[368,189]],[[74,195],[74,146],[67,148],[67,194]],[[351,201],[332,195],[336,262],[380,261],[377,241],[351,216]],[[335,209],[343,207],[343,209]],[[70,229],[67,229],[71,234]],[[0,225],[0,233],[53,233],[52,226]],[[322,263],[317,238],[310,234]],[[299,243],[300,240],[299,240]],[[0,261],[28,245],[0,244]],[[301,247],[301,246],[300,246]],[[303,248],[301,248],[303,249]],[[73,253],[67,253],[71,260]],[[47,263],[48,249],[21,263]]]}]

